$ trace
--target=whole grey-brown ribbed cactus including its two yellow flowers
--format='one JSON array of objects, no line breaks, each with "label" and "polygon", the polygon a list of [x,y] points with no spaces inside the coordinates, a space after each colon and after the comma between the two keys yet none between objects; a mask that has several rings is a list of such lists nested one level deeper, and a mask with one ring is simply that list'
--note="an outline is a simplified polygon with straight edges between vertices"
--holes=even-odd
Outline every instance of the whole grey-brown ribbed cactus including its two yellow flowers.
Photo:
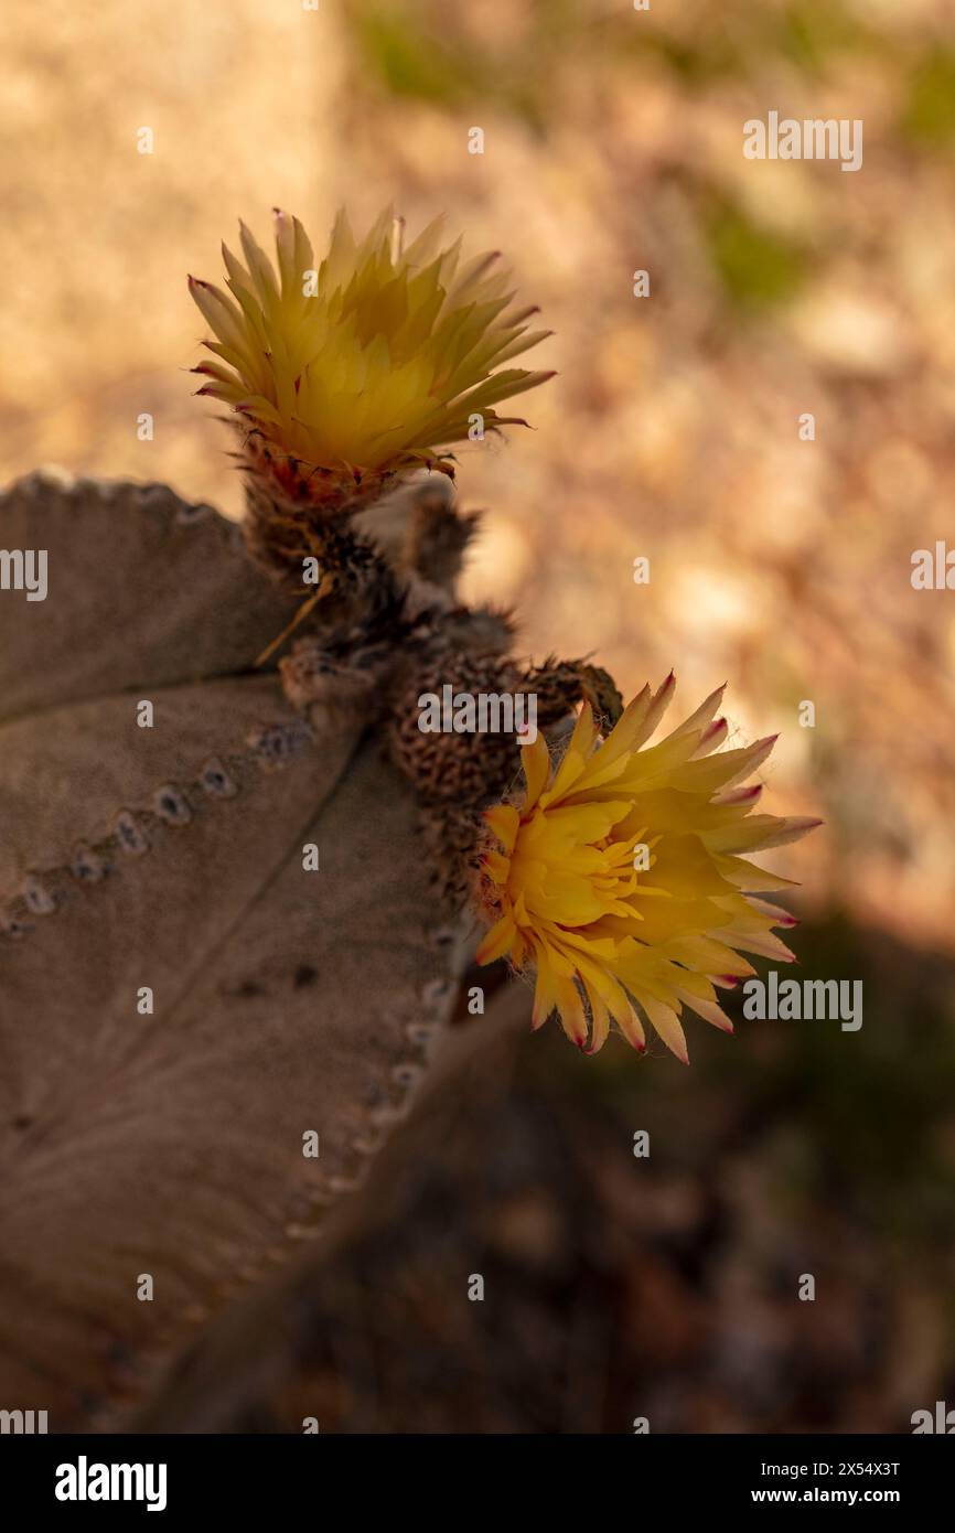
[{"label": "whole grey-brown ribbed cactus including its two yellow flowers", "polygon": [[[235,302],[193,291],[245,521],[159,484],[0,497],[46,569],[0,592],[0,1403],[51,1430],[127,1420],[330,1228],[454,1056],[475,955],[537,970],[535,1023],[581,1046],[647,1015],[678,1053],[684,1001],[722,1026],[739,952],[785,955],[736,855],[805,828],[745,819],[765,747],[710,756],[711,699],[642,750],[668,685],[624,713],[457,596],[449,448],[546,377],[494,371],[540,337],[489,258],[339,221],[313,268],[282,216],[277,273],[242,244]],[[423,727],[445,698],[533,699],[526,786],[514,728]]]}]

